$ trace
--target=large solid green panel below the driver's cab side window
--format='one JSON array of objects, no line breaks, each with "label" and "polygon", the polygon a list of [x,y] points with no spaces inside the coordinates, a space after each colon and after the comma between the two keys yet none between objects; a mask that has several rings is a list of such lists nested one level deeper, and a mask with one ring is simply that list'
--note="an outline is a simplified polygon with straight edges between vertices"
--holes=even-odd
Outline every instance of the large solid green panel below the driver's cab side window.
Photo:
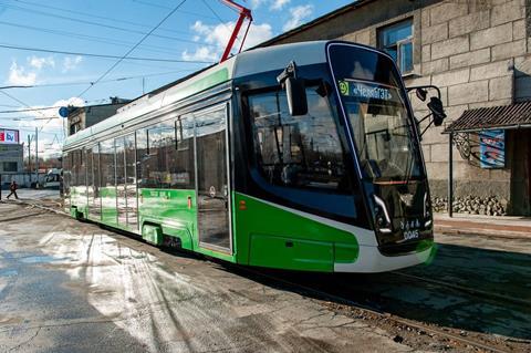
[{"label": "large solid green panel below the driver's cab side window", "polygon": [[321,221],[236,194],[235,225],[239,261],[292,270],[333,271],[357,259],[354,235]]}]

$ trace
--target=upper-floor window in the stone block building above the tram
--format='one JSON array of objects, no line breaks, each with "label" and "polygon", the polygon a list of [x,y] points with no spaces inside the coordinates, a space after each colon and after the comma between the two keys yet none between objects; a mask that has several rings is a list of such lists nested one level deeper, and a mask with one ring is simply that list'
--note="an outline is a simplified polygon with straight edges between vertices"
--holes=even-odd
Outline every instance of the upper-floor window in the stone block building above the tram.
[{"label": "upper-floor window in the stone block building above the tram", "polygon": [[398,64],[402,73],[413,71],[413,20],[408,19],[378,30],[378,46]]}]

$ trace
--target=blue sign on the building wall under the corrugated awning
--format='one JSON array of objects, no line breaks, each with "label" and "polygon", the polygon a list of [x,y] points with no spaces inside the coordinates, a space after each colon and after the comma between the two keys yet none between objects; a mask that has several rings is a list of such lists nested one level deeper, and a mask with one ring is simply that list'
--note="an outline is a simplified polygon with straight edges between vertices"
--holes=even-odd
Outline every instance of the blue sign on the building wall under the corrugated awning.
[{"label": "blue sign on the building wall under the corrugated awning", "polygon": [[479,133],[479,159],[481,168],[506,167],[506,131],[492,129]]}]

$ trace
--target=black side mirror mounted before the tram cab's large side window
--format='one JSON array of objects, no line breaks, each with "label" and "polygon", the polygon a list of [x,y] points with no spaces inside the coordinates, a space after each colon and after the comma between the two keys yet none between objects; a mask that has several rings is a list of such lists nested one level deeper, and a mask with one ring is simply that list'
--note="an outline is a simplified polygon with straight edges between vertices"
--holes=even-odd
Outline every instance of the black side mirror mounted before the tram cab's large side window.
[{"label": "black side mirror mounted before the tram cab's large side window", "polygon": [[304,79],[296,76],[296,64],[294,61],[282,71],[277,77],[288,97],[288,108],[291,116],[308,114],[308,97]]}]

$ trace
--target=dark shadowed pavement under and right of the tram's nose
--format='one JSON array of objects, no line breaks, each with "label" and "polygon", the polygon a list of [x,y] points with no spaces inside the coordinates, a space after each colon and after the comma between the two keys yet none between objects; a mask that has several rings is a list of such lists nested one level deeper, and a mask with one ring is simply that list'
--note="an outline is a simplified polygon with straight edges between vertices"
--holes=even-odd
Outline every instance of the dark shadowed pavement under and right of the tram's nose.
[{"label": "dark shadowed pavement under and right of the tram's nose", "polygon": [[430,263],[399,271],[282,276],[398,318],[464,336],[502,338],[510,350],[531,352],[531,239],[436,235],[436,241]]}]

